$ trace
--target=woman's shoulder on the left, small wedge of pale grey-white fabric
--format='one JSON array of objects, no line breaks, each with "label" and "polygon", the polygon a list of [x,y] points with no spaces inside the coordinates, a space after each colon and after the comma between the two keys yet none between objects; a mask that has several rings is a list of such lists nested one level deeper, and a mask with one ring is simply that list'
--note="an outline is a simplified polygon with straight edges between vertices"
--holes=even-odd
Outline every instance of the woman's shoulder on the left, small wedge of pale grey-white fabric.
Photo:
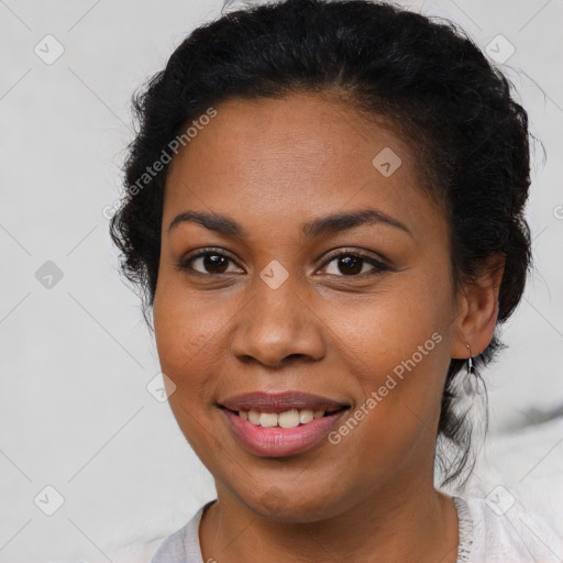
[{"label": "woman's shoulder on the left, small wedge of pale grey-white fabric", "polygon": [[206,508],[216,503],[203,505],[179,530],[168,536],[154,554],[151,563],[202,563],[199,545],[199,522]]}]

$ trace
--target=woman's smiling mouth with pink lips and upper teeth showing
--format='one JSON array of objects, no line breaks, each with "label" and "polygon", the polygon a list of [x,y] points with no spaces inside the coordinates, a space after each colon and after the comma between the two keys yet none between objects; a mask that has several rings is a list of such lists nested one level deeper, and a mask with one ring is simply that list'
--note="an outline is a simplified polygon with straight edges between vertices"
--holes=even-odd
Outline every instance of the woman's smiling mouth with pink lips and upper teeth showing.
[{"label": "woman's smiling mouth with pink lips and upper teeth showing", "polygon": [[318,445],[351,407],[297,391],[239,395],[217,406],[239,444],[266,457],[295,455]]}]

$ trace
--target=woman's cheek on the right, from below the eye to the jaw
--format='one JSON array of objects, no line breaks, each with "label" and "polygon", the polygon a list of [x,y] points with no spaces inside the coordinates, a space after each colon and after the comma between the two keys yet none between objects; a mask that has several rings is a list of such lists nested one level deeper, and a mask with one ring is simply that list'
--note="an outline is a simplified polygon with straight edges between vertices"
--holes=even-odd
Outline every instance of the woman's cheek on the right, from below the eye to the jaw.
[{"label": "woman's cheek on the right, from below the eye to the jaw", "polygon": [[393,290],[349,303],[346,322],[334,323],[363,396],[355,406],[363,430],[351,421],[344,433],[374,463],[387,452],[389,471],[422,435],[435,440],[450,363],[448,295],[448,280],[405,275]]}]

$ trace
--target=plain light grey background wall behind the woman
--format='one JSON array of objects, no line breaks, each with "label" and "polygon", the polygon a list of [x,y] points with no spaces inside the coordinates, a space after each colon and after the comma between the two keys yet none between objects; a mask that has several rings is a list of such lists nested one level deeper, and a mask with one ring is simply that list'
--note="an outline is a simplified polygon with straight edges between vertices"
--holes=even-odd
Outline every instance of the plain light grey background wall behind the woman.
[{"label": "plain light grey background wall behind the woman", "polygon": [[[538,145],[528,208],[537,269],[503,331],[510,347],[485,373],[493,439],[519,435],[538,418],[530,409],[563,405],[563,1],[401,3],[452,19],[499,57],[514,45],[500,66],[548,152],[543,163]],[[0,0],[0,562],[110,561],[214,498],[167,404],[146,388],[158,360],[103,210],[119,196],[132,92],[221,8]],[[533,439],[518,470],[538,462],[539,475],[561,460],[559,435]],[[64,498],[53,516],[46,486]]]}]

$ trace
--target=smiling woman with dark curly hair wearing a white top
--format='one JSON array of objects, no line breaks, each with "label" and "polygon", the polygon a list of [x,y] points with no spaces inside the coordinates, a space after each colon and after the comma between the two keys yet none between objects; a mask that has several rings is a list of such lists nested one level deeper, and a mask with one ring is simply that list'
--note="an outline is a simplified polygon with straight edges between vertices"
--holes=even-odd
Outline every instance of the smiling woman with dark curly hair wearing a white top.
[{"label": "smiling woman with dark curly hair wearing a white top", "polygon": [[558,561],[434,486],[530,264],[527,114],[479,49],[288,0],[194,31],[135,109],[111,232],[218,495],[153,562]]}]

